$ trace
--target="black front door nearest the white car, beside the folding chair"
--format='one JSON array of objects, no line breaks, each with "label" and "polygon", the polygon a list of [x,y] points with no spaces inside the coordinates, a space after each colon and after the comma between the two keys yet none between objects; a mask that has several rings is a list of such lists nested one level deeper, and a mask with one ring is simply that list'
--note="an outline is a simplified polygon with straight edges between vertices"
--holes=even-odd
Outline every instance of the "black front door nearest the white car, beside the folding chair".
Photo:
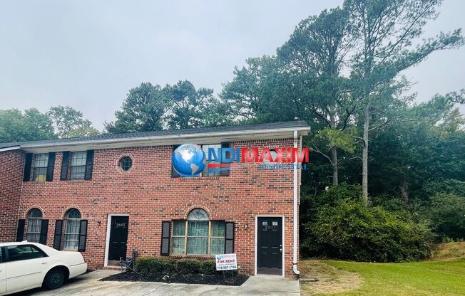
[{"label": "black front door nearest the white car, beside the folding chair", "polygon": [[110,228],[110,245],[108,248],[108,265],[119,264],[120,257],[126,258],[128,243],[128,216],[112,216]]}]

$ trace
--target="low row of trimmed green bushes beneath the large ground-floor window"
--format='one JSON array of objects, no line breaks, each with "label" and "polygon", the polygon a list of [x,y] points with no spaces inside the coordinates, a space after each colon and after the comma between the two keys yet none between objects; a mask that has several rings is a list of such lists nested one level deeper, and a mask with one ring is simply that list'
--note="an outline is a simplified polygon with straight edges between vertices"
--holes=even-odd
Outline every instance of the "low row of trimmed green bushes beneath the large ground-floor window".
[{"label": "low row of trimmed green bushes beneath the large ground-floor window", "polygon": [[142,257],[136,259],[136,271],[138,273],[179,273],[183,275],[200,273],[214,275],[216,265],[213,260]]}]

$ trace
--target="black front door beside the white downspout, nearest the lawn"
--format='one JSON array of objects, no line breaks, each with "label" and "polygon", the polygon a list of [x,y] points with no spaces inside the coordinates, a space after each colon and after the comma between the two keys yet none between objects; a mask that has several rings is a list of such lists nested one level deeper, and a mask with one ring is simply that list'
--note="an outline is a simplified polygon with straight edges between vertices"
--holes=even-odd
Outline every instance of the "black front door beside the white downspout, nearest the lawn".
[{"label": "black front door beside the white downspout, nearest the lawn", "polygon": [[259,217],[257,273],[282,275],[282,218]]}]

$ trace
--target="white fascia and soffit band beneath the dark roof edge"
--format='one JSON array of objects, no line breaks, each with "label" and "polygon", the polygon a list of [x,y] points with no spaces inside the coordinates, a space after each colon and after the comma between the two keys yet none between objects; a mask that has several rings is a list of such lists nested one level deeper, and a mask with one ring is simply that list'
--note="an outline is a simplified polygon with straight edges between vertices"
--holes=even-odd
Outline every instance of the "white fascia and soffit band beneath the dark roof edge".
[{"label": "white fascia and soffit band beneath the dark roof edge", "polygon": [[[182,144],[183,142],[194,142],[196,144],[218,142],[218,141],[241,141],[251,139],[283,139],[292,138],[293,132],[307,135],[310,127],[286,127],[282,129],[256,129],[234,132],[209,132],[201,134],[178,134],[167,136],[129,137],[118,139],[94,139],[76,142],[54,142],[54,143],[31,143],[21,145],[20,148],[28,152],[46,152],[52,149],[112,149],[128,147],[160,146],[170,144]],[[261,137],[260,137],[261,135]]]}]

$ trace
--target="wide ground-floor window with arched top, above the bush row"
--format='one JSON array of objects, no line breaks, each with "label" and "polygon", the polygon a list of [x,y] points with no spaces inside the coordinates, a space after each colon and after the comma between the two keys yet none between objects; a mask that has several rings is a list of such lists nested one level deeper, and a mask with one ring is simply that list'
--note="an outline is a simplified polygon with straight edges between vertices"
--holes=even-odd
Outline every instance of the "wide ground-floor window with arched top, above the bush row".
[{"label": "wide ground-floor window with arched top, above the bush row", "polygon": [[187,221],[173,221],[173,254],[216,255],[225,251],[225,221],[209,221],[202,208],[189,213]]}]

